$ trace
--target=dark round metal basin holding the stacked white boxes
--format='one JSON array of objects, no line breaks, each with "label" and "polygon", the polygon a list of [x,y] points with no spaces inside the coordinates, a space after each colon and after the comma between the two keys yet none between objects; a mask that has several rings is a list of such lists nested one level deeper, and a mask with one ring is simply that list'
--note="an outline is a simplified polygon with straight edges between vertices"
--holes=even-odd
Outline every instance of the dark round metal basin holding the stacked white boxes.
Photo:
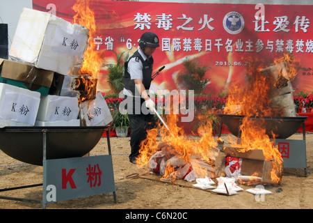
[{"label": "dark round metal basin holding the stacked white boxes", "polygon": [[46,131],[46,159],[81,157],[89,153],[102,137],[105,126],[0,128],[0,149],[10,157],[42,165],[43,131]]}]

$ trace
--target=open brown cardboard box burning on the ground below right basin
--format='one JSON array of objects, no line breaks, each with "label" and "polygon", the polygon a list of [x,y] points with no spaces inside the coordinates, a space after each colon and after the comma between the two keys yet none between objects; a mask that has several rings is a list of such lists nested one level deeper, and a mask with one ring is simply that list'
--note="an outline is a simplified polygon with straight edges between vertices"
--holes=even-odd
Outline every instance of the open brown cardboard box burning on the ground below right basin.
[{"label": "open brown cardboard box burning on the ground below right basin", "polygon": [[265,160],[261,149],[253,149],[243,152],[240,148],[225,147],[225,159],[236,157],[240,159],[240,165],[232,170],[240,169],[241,176],[237,177],[241,183],[264,183],[279,185],[282,180],[282,164],[278,160]]}]

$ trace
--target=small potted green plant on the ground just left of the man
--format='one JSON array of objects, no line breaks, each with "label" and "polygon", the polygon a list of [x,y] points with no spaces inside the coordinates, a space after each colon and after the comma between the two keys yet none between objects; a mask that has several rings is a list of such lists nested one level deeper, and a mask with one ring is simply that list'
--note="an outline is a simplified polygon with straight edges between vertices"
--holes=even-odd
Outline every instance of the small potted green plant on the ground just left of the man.
[{"label": "small potted green plant on the ground just left of the man", "polygon": [[118,137],[127,137],[129,129],[129,118],[125,112],[114,112],[111,128],[115,129]]}]

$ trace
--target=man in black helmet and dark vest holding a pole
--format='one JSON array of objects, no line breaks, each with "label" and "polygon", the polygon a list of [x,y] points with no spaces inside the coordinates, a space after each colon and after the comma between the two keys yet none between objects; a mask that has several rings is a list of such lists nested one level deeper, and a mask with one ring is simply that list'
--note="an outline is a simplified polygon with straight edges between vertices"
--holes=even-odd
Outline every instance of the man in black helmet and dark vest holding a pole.
[{"label": "man in black helmet and dark vest holding a pole", "polygon": [[129,61],[125,62],[125,89],[123,93],[125,100],[131,101],[127,104],[131,128],[131,154],[129,161],[136,164],[139,155],[141,141],[146,138],[147,130],[154,128],[155,120],[153,114],[154,102],[148,95],[152,81],[153,58],[152,54],[159,47],[159,38],[151,32],[143,33],[139,40],[138,50]]}]

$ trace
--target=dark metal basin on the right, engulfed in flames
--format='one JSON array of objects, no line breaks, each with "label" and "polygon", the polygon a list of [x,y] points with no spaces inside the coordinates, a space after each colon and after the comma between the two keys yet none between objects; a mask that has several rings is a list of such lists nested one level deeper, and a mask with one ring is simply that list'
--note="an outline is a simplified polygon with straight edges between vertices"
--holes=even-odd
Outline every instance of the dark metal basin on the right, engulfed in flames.
[{"label": "dark metal basin on the right, engulfed in flames", "polygon": [[[234,136],[239,135],[239,126],[241,121],[245,116],[236,116],[228,114],[218,114],[222,118],[223,124],[226,126],[227,130]],[[253,118],[254,124],[257,126],[262,126],[266,130],[266,134],[273,139],[273,134],[275,134],[276,139],[287,139],[292,134],[294,134],[305,120],[307,116],[295,116],[295,117],[262,117]],[[273,134],[272,134],[273,132]]]}]

